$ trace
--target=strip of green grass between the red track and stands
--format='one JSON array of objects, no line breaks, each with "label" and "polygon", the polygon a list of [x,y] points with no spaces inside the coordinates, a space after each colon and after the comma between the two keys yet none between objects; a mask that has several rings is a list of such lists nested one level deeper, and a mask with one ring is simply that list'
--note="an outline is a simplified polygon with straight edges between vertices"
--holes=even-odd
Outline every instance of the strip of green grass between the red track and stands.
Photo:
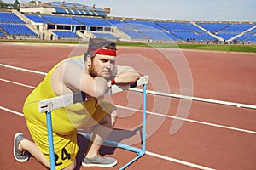
[{"label": "strip of green grass between the red track and stands", "polygon": [[[0,42],[27,42],[27,43],[58,43],[58,44],[87,44],[86,42],[57,42],[57,41],[0,41]],[[227,44],[164,44],[164,43],[142,43],[142,42],[117,42],[118,46],[136,46],[147,48],[181,48],[202,49],[214,51],[233,51],[256,53],[256,45],[227,45]]]}]

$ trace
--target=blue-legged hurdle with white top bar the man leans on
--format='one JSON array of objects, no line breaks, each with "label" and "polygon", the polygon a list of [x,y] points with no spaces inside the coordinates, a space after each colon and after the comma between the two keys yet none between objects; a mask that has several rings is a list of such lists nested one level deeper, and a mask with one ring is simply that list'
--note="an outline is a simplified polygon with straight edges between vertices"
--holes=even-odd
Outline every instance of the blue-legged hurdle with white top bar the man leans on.
[{"label": "blue-legged hurdle with white top bar the man leans on", "polygon": [[[105,140],[104,144],[112,147],[118,147],[125,150],[130,150],[137,153],[137,156],[133,158],[131,161],[126,163],[120,169],[125,169],[129,167],[134,161],[137,161],[140,157],[145,155],[146,153],[146,107],[147,107],[147,84],[149,81],[148,76],[140,77],[137,82],[130,85],[116,85],[114,84],[105,95],[116,94],[124,90],[131,90],[131,88],[135,88],[138,86],[143,86],[143,137],[141,141],[141,148],[136,148],[127,144],[121,144],[116,141]],[[40,113],[46,114],[46,122],[47,122],[47,132],[48,132],[48,143],[49,143],[49,162],[50,169],[55,170],[55,151],[54,151],[54,143],[53,143],[53,131],[52,131],[52,122],[51,122],[51,112],[55,109],[60,109],[62,107],[66,107],[68,105],[73,105],[78,102],[83,102],[86,98],[86,95],[83,92],[74,93],[74,94],[65,94],[61,96],[57,96],[55,98],[44,99],[38,101],[38,111]],[[90,134],[85,136],[87,139],[90,139]]]}]

